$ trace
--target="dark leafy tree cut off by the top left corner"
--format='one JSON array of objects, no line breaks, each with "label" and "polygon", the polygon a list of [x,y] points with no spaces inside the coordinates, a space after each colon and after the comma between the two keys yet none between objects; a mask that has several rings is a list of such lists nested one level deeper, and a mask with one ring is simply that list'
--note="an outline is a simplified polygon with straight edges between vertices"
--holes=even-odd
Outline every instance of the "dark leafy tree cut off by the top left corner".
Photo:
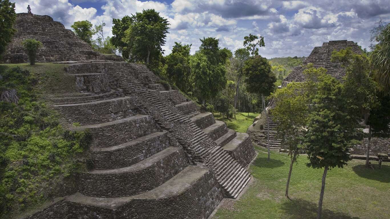
[{"label": "dark leafy tree cut off by the top left corner", "polygon": [[9,0],[0,0],[0,57],[16,32],[12,28],[15,20],[15,3],[9,2]]}]

